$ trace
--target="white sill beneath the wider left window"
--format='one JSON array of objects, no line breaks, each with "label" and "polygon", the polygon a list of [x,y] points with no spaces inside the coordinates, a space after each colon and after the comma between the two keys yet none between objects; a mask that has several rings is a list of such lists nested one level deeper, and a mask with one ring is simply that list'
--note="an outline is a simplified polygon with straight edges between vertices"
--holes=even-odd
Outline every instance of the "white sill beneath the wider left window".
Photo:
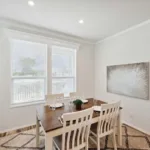
[{"label": "white sill beneath the wider left window", "polygon": [[17,107],[26,107],[31,105],[37,105],[37,104],[45,104],[45,100],[39,100],[34,102],[26,102],[26,103],[14,103],[10,105],[10,108],[17,108]]}]

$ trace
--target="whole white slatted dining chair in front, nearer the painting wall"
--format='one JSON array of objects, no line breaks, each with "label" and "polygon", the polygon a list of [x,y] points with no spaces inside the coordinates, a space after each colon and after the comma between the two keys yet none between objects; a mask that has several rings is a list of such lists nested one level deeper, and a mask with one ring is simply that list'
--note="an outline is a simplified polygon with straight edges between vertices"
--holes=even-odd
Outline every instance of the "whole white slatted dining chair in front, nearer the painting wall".
[{"label": "whole white slatted dining chair in front, nearer the painting wall", "polygon": [[90,135],[93,135],[96,140],[90,136],[90,139],[97,145],[97,150],[100,150],[100,139],[107,135],[112,135],[114,149],[117,150],[115,128],[117,118],[119,116],[120,101],[111,104],[102,104],[97,130],[91,128]]}]

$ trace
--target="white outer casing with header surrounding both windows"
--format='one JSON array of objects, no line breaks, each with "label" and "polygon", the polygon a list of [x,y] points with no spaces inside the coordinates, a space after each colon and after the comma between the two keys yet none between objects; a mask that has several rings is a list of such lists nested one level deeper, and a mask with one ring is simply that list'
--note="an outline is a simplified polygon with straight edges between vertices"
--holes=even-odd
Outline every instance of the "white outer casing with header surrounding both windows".
[{"label": "white outer casing with header surrounding both windows", "polygon": [[[80,47],[80,44],[70,42],[70,41],[64,41],[61,39],[56,39],[56,38],[50,38],[47,36],[42,36],[42,35],[37,35],[34,33],[29,33],[29,32],[24,32],[24,31],[17,31],[13,29],[3,29],[5,38],[8,39],[9,43],[10,40],[12,39],[18,39],[18,40],[24,40],[24,41],[29,41],[29,42],[35,42],[35,43],[42,43],[47,45],[47,58],[46,58],[46,80],[45,80],[45,85],[46,85],[46,94],[52,94],[52,64],[51,64],[51,59],[52,59],[52,46],[61,46],[61,47],[66,47],[70,49],[74,49],[76,51],[76,59],[75,59],[75,91],[77,90],[77,51]],[[10,51],[10,59],[11,59],[11,50]],[[11,71],[11,65],[12,62],[10,60],[10,108],[14,107],[24,107],[24,106],[30,106],[30,105],[37,105],[37,104],[44,104],[45,99],[43,101],[34,101],[34,102],[29,102],[29,103],[18,103],[18,104],[13,104],[12,99],[13,99],[13,82],[12,82],[12,71]],[[20,77],[19,77],[20,78]]]}]

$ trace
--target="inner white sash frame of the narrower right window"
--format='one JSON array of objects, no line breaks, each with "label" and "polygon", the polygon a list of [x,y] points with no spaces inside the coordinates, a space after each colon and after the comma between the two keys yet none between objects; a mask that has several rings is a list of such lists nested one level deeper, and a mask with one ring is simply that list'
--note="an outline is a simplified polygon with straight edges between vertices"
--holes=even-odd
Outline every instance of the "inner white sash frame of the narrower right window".
[{"label": "inner white sash frame of the narrower right window", "polygon": [[[74,52],[74,57],[73,57],[73,66],[74,66],[74,75],[73,76],[63,76],[63,77],[53,77],[53,75],[52,75],[52,79],[51,80],[53,80],[53,79],[73,79],[73,82],[74,82],[74,92],[76,92],[77,91],[77,67],[76,67],[76,63],[77,63],[77,49],[75,49],[75,48],[72,48],[72,47],[66,47],[66,46],[64,46],[64,45],[53,45],[52,46],[52,53],[51,53],[51,57],[52,57],[52,55],[53,55],[53,47],[58,47],[58,48],[62,48],[62,49],[66,49],[66,51],[68,50],[68,52],[70,51],[73,51]],[[56,54],[56,53],[55,53]],[[60,54],[60,53],[58,53],[58,54]],[[62,54],[63,54],[63,52],[62,52]],[[51,64],[52,64],[52,62],[51,62]],[[52,81],[51,81],[51,83],[52,83]],[[51,92],[53,91],[53,89],[51,90]],[[52,94],[53,94],[53,92],[52,92]],[[64,93],[65,94],[65,93]],[[65,97],[68,97],[68,96],[66,96],[66,95],[64,95]]]}]

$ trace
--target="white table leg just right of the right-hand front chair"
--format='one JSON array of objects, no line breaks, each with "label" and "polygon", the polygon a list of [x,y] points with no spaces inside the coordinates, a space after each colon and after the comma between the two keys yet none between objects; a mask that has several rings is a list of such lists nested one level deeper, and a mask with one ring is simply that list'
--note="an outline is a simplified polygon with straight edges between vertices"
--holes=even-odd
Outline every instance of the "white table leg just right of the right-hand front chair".
[{"label": "white table leg just right of the right-hand front chair", "polygon": [[118,145],[122,145],[122,120],[121,120],[121,110],[119,112],[118,120],[117,120],[117,133],[118,133]]}]

